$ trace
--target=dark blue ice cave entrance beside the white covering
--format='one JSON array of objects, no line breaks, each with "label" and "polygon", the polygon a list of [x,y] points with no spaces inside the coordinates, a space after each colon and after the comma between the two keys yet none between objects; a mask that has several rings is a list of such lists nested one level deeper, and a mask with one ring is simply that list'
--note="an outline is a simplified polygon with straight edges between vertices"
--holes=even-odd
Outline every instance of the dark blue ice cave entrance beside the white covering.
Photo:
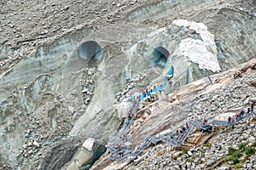
[{"label": "dark blue ice cave entrance beside the white covering", "polygon": [[165,67],[167,64],[168,57],[170,56],[170,53],[166,48],[158,47],[154,48],[153,55],[154,64]]}]

